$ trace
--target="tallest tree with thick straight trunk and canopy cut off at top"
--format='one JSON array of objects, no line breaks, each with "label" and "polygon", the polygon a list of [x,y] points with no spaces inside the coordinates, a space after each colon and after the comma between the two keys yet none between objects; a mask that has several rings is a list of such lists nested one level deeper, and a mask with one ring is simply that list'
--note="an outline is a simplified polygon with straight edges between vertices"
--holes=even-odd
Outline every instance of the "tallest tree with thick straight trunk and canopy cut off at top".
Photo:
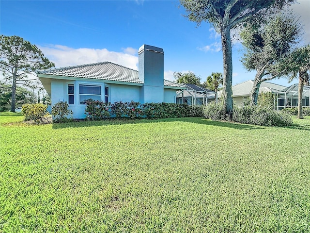
[{"label": "tallest tree with thick straight trunk and canopy cut off at top", "polygon": [[231,29],[253,17],[281,10],[294,0],[180,0],[188,18],[197,22],[208,21],[221,34],[223,51],[223,104],[226,113],[233,110],[233,59]]}]

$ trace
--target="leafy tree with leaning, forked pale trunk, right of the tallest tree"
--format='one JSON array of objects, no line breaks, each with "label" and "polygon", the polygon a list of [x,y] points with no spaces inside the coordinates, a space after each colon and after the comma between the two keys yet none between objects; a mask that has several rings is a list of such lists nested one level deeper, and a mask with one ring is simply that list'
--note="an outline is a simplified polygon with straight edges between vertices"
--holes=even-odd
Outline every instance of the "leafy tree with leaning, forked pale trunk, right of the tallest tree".
[{"label": "leafy tree with leaning, forked pale trunk, right of the tallest tree", "polygon": [[248,71],[256,71],[250,91],[251,105],[257,105],[261,83],[292,71],[289,57],[300,41],[301,28],[293,15],[278,14],[263,25],[249,23],[240,33],[245,47],[242,64]]}]

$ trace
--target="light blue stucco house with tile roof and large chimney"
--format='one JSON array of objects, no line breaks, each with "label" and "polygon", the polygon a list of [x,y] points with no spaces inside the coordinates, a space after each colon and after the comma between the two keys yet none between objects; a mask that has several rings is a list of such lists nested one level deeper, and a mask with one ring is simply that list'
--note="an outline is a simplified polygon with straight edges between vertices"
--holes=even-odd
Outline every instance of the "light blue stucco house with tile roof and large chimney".
[{"label": "light blue stucco house with tile roof and large chimney", "polygon": [[74,118],[85,118],[85,100],[105,102],[176,102],[181,84],[164,80],[164,51],[142,45],[139,72],[111,62],[41,70],[37,75],[51,97],[51,104],[65,101]]}]

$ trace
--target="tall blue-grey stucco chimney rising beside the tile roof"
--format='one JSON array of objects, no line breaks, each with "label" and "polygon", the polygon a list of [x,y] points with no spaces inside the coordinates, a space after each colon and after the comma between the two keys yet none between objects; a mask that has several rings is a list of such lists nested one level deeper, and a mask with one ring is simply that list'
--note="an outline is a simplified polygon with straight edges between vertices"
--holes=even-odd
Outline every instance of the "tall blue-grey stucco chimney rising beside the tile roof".
[{"label": "tall blue-grey stucco chimney rising beside the tile roof", "polygon": [[150,45],[139,49],[140,102],[164,101],[164,50]]}]

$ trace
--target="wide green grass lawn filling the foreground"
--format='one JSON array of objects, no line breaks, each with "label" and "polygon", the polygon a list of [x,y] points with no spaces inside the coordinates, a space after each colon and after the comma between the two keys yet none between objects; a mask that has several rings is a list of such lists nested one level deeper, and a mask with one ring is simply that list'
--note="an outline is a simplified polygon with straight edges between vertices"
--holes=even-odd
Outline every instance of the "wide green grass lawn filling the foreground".
[{"label": "wide green grass lawn filling the foreground", "polygon": [[310,232],[309,116],[22,118],[0,115],[0,232]]}]

